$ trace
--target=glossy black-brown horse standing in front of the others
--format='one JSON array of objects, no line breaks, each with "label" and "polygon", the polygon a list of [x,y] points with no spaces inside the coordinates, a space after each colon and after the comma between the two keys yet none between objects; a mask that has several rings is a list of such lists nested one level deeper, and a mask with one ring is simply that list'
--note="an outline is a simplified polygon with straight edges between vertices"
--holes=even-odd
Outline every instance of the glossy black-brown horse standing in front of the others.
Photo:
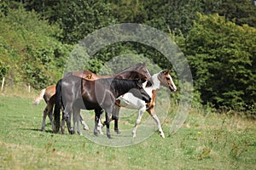
[{"label": "glossy black-brown horse standing in front of the others", "polygon": [[[131,89],[137,89],[131,92],[146,102],[150,102],[150,97],[143,88],[141,80],[126,80],[119,78],[100,78],[94,81],[85,80],[80,77],[69,74],[63,77],[56,84],[56,103],[55,103],[55,128],[58,131],[60,127],[60,109],[62,112],[61,131],[64,131],[65,122],[69,133],[74,133],[71,127],[69,116],[72,114],[73,105],[76,108],[95,111],[95,129],[97,136],[97,127],[102,110],[106,112],[107,137],[111,139],[109,130],[110,115],[113,111],[115,99],[120,95],[129,92]],[[64,122],[64,123],[63,123]]]}]

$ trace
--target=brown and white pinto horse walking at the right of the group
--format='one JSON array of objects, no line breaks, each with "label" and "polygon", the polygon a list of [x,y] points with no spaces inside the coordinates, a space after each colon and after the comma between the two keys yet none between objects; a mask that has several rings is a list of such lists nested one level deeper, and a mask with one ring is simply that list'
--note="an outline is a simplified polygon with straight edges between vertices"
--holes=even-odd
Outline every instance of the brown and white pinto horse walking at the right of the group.
[{"label": "brown and white pinto horse walking at the right of the group", "polygon": [[[160,120],[155,114],[154,106],[156,101],[156,94],[160,89],[160,85],[170,88],[173,92],[177,90],[169,71],[160,71],[149,78],[148,82],[144,82],[143,86],[148,95],[151,97],[151,102],[145,103],[142,99],[138,99],[131,93],[124,94],[116,100],[116,106],[113,108],[113,115],[119,116],[119,107],[125,107],[132,110],[139,110],[137,115],[137,122],[132,130],[133,137],[136,137],[137,125],[141,122],[144,111],[148,111],[149,115],[153,117],[154,122],[157,123],[160,136],[165,138],[165,134],[160,125]],[[103,123],[104,125],[104,123]],[[115,130],[118,131],[118,122],[115,120]]]}]

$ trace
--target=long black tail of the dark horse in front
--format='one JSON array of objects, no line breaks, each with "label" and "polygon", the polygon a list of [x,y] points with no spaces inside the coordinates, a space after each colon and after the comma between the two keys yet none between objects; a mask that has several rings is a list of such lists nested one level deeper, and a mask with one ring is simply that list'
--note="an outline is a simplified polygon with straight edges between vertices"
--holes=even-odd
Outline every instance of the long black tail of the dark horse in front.
[{"label": "long black tail of the dark horse in front", "polygon": [[61,112],[61,80],[56,84],[55,92],[55,111],[54,111],[54,122],[55,122],[55,132],[60,130],[60,112]]}]

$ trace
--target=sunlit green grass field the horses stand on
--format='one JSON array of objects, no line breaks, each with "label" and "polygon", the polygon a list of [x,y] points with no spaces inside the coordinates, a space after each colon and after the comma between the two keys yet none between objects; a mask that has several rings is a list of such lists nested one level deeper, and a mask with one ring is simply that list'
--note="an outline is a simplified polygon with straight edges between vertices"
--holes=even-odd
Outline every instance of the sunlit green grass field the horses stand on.
[{"label": "sunlit green grass field the horses stand on", "polygon": [[[41,132],[44,106],[0,95],[0,169],[256,169],[255,120],[191,110],[171,137],[154,133],[139,144],[113,148],[77,134],[51,133],[48,118],[48,133]],[[175,109],[169,112],[163,122],[166,136]],[[120,130],[129,122],[121,120]]]}]

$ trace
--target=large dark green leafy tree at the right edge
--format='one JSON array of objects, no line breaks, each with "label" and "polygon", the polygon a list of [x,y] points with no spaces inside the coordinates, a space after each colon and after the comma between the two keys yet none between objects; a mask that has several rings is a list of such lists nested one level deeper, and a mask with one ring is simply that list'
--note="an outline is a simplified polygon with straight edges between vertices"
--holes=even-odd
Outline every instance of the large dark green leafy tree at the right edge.
[{"label": "large dark green leafy tree at the right edge", "polygon": [[204,103],[238,110],[255,105],[255,35],[253,27],[199,14],[184,52]]}]

